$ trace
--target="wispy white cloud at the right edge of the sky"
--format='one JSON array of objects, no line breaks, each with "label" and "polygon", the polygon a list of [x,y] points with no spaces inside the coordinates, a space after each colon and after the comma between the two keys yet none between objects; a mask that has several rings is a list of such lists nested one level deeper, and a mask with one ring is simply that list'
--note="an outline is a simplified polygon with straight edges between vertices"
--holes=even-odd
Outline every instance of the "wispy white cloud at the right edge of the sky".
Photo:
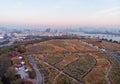
[{"label": "wispy white cloud at the right edge of the sky", "polygon": [[90,20],[98,23],[120,24],[120,7],[105,9],[93,13],[89,17]]}]

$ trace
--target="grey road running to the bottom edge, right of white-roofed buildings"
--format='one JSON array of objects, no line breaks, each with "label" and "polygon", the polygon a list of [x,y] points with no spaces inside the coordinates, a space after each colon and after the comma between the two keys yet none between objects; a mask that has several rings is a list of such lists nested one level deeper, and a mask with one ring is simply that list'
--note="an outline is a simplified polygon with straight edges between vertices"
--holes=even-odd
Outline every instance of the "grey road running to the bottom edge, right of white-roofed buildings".
[{"label": "grey road running to the bottom edge, right of white-roofed buildings", "polygon": [[37,66],[36,60],[34,59],[34,57],[32,55],[28,55],[28,59],[36,73],[36,84],[44,84],[44,81],[43,81],[44,78]]}]

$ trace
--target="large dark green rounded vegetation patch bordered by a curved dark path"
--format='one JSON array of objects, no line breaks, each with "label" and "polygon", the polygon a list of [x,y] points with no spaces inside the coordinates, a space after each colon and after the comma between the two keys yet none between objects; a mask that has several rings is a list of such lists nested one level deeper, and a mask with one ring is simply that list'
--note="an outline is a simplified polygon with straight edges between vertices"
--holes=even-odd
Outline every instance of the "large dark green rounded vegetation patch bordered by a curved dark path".
[{"label": "large dark green rounded vegetation patch bordered by a curved dark path", "polygon": [[94,63],[95,60],[91,56],[81,57],[77,61],[66,66],[64,72],[77,80],[82,80],[82,76],[94,65]]}]

